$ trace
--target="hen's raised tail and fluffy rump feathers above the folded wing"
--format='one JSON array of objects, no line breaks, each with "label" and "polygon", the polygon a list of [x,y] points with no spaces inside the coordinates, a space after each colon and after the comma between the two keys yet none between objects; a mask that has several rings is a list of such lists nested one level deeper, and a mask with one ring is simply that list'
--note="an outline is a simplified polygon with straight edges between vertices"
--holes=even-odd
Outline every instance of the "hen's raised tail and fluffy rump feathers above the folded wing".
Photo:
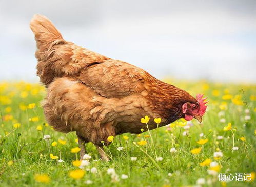
[{"label": "hen's raised tail and fluffy rump feathers above the folded wing", "polygon": [[65,41],[45,16],[34,15],[30,28],[35,35],[37,75],[48,86],[56,77],[78,75],[81,69],[109,59],[103,55]]}]

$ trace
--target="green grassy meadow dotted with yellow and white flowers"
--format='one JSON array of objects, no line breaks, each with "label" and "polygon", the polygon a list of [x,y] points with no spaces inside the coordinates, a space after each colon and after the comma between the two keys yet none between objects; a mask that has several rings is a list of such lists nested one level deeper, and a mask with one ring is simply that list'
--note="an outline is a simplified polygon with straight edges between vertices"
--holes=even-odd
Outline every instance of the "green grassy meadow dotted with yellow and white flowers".
[{"label": "green grassy meadow dotted with yellow and white flowers", "polygon": [[255,186],[256,85],[164,81],[208,97],[203,122],[109,137],[109,162],[91,143],[77,160],[75,133],[45,121],[43,86],[0,82],[0,186]]}]

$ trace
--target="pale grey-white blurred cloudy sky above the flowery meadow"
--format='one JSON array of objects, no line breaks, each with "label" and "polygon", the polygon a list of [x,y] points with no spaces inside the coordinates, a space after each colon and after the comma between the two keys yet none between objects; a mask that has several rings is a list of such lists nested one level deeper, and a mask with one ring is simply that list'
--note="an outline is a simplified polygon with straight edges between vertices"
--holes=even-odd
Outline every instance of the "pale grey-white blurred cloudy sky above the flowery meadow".
[{"label": "pale grey-white blurred cloudy sky above the flowery meadow", "polygon": [[67,41],[157,78],[256,82],[255,0],[0,0],[0,81],[38,81],[36,13]]}]

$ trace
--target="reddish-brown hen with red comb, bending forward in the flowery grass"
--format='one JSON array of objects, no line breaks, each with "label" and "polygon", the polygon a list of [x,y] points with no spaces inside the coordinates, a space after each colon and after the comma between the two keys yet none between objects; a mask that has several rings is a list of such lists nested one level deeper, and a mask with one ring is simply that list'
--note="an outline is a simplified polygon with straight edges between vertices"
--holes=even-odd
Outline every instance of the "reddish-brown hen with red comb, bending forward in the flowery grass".
[{"label": "reddish-brown hen with red comb, bending forward in the flowery grass", "polygon": [[149,115],[149,129],[180,118],[202,121],[206,110],[203,95],[196,99],[186,91],[164,83],[149,73],[120,60],[114,60],[63,39],[52,22],[34,15],[30,28],[35,35],[37,75],[47,88],[42,102],[47,122],[60,132],[76,131],[85,154],[92,142],[102,159],[108,136],[140,133]]}]

